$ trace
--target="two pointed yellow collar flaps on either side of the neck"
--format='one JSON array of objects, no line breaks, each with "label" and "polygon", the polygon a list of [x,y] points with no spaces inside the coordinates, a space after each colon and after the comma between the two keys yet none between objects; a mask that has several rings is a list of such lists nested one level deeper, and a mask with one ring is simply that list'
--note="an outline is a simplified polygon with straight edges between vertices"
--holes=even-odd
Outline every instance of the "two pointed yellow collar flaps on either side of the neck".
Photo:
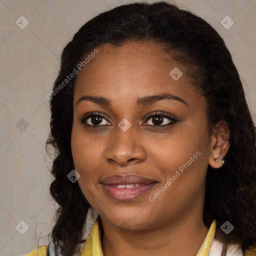
[{"label": "two pointed yellow collar flaps on either side of the neck", "polygon": [[[216,229],[216,221],[213,220],[196,256],[207,256],[209,254],[210,245],[215,234],[215,229]],[[85,241],[85,244],[83,246],[80,256],[91,256],[91,255],[103,256],[103,252],[101,248],[101,226],[99,223],[99,218],[97,218],[97,220],[95,221],[89,233],[89,236]]]}]

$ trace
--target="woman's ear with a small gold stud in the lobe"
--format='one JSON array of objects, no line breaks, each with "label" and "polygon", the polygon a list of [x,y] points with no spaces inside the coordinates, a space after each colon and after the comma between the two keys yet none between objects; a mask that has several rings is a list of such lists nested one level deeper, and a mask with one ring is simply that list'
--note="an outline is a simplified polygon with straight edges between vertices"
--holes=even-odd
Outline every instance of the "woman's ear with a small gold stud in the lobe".
[{"label": "woman's ear with a small gold stud in the lobe", "polygon": [[221,162],[226,155],[230,142],[230,130],[228,124],[221,120],[213,127],[211,135],[211,152],[209,156],[209,165],[212,168],[220,168],[223,163]]}]

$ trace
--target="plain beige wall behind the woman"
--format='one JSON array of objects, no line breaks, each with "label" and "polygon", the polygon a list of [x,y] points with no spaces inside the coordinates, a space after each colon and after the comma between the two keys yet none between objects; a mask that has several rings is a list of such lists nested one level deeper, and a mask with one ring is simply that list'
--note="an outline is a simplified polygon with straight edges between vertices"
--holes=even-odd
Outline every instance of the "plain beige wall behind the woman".
[{"label": "plain beige wall behind the woman", "polygon": [[[44,149],[50,116],[46,94],[56,78],[62,48],[88,19],[128,2],[132,1],[0,0],[0,256],[36,248],[38,238],[52,227],[52,159]],[[256,1],[176,2],[208,21],[224,38],[256,120]],[[29,21],[24,29],[15,23],[22,15]],[[220,23],[226,15],[234,21],[229,29]],[[16,126],[21,118],[28,127]],[[25,231],[26,224],[20,221],[29,227],[24,234],[19,231]],[[44,236],[39,245],[46,242]]]}]

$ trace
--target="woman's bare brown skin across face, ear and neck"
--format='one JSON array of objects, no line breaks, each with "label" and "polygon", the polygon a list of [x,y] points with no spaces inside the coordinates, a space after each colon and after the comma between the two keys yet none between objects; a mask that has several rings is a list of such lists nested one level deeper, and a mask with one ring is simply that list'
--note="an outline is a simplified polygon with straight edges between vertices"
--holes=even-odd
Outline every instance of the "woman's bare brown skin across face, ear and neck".
[{"label": "woman's bare brown skin across face, ear and neck", "polygon": [[[97,49],[76,77],[71,149],[79,186],[100,215],[103,254],[195,256],[208,231],[202,219],[207,166],[222,165],[216,159],[228,150],[228,129],[220,123],[208,132],[205,99],[192,86],[185,66],[160,46],[126,42]],[[178,80],[169,75],[174,67],[183,73]],[[186,104],[173,99],[136,104],[139,97],[162,92]],[[84,95],[105,97],[111,106],[89,100],[76,104]],[[91,124],[91,117],[79,122],[93,111],[105,114],[101,126],[85,125]],[[156,128],[153,118],[146,118],[154,111],[175,116],[177,122]],[[118,126],[123,118],[131,123],[126,131]],[[159,125],[169,122],[164,117]],[[154,202],[149,201],[197,151],[201,155]],[[158,183],[128,202],[109,197],[99,183],[110,175],[131,173]]]}]

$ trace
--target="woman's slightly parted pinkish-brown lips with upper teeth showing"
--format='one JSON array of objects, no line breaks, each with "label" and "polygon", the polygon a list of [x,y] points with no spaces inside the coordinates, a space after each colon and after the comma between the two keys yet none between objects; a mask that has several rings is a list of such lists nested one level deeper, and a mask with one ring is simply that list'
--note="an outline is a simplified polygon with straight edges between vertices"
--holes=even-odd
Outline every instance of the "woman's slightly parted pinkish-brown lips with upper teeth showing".
[{"label": "woman's slightly parted pinkish-brown lips with upper teeth showing", "polygon": [[100,181],[104,192],[117,201],[131,201],[148,192],[158,182],[137,175],[114,175]]}]

